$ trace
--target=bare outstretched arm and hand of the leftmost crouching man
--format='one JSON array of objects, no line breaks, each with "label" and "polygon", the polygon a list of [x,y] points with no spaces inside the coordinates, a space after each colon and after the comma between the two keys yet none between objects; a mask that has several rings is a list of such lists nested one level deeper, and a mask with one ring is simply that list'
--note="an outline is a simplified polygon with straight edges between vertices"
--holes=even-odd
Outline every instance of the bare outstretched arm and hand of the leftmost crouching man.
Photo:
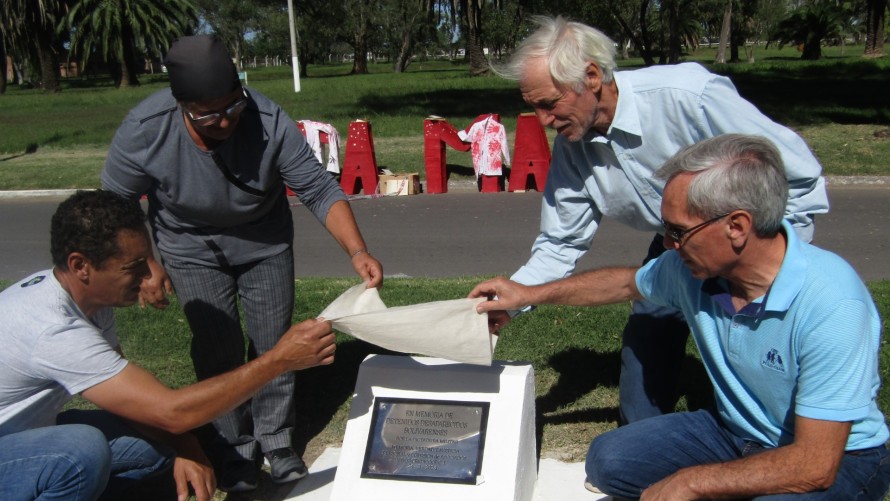
[{"label": "bare outstretched arm and hand of the leftmost crouching man", "polygon": [[191,386],[167,388],[131,363],[83,396],[126,419],[181,434],[234,409],[284,372],[332,363],[334,350],[330,322],[306,320],[259,358]]}]

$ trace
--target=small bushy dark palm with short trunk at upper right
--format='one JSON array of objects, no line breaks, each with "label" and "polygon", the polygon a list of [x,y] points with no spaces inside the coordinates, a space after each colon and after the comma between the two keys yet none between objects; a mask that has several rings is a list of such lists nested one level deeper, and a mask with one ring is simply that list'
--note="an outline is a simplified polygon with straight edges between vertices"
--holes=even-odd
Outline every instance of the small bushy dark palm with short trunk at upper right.
[{"label": "small bushy dark palm with short trunk at upper right", "polygon": [[822,41],[841,36],[843,15],[842,8],[832,0],[814,0],[780,22],[774,39],[780,47],[789,43],[801,47],[801,59],[820,59]]}]

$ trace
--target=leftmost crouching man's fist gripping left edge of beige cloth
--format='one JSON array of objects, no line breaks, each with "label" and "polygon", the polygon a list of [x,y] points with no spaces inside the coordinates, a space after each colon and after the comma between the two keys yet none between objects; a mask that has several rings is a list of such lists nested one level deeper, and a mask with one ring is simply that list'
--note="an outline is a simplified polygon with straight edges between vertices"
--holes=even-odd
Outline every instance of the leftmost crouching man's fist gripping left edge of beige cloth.
[{"label": "leftmost crouching man's fist gripping left edge of beige cloth", "polygon": [[334,363],[334,351],[337,345],[331,331],[331,322],[327,320],[304,320],[292,325],[275,345],[290,367],[290,370],[302,370],[317,365]]}]

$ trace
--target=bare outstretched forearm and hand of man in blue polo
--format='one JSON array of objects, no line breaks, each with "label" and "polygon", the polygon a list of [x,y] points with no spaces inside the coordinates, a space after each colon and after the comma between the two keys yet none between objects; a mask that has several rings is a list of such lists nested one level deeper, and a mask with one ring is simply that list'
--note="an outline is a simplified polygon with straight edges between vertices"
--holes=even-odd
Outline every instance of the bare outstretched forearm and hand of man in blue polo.
[{"label": "bare outstretched forearm and hand of man in blue polo", "polygon": [[482,313],[498,310],[518,310],[530,304],[565,304],[570,306],[599,306],[637,299],[634,276],[636,268],[601,268],[536,286],[525,286],[499,277],[477,285],[470,297],[497,299],[479,303]]}]

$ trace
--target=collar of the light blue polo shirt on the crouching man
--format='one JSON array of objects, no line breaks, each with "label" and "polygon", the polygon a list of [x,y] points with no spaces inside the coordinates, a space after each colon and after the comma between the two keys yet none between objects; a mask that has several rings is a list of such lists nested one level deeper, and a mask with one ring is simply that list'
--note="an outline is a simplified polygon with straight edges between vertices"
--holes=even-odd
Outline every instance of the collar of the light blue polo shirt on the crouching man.
[{"label": "collar of the light blue polo shirt on the crouching man", "polygon": [[[803,287],[806,274],[806,261],[803,258],[803,242],[797,237],[794,228],[788,221],[782,221],[782,229],[785,234],[786,247],[785,258],[775,280],[767,289],[763,299],[750,303],[738,313],[754,318],[763,318],[767,311],[788,311],[792,301],[797,297]],[[729,286],[726,280],[719,277],[709,278],[702,283],[702,292],[711,295],[726,312],[735,314],[732,306],[732,298],[729,294]]]}]

